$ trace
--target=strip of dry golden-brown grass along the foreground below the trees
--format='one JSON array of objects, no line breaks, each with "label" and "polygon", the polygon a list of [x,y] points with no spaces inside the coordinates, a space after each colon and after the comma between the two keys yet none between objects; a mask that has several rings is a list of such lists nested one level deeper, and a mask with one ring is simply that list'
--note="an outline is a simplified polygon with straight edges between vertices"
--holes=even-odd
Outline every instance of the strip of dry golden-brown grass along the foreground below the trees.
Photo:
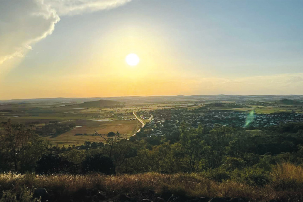
[{"label": "strip of dry golden-brown grass along the foreground below the trees", "polygon": [[281,164],[273,168],[272,183],[265,187],[253,187],[247,184],[224,181],[216,182],[202,174],[123,174],[123,175],[35,175],[0,174],[1,190],[20,189],[24,185],[36,188],[44,187],[59,196],[70,196],[79,190],[98,189],[107,196],[119,194],[136,195],[146,190],[155,190],[191,197],[242,197],[251,201],[302,201],[303,168],[292,164]]}]

